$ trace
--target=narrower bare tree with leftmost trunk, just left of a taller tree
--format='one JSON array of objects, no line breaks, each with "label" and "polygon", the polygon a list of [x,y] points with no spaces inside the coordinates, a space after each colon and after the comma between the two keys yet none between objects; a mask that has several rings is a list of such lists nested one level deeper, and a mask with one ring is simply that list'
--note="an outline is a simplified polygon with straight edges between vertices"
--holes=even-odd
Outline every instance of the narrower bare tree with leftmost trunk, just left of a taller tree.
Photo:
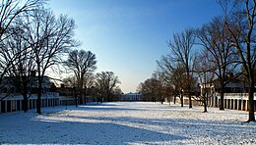
[{"label": "narrower bare tree with leftmost trunk, just left of a taller tree", "polygon": [[7,72],[8,79],[12,86],[16,88],[19,93],[22,94],[23,109],[26,113],[28,111],[29,94],[32,93],[32,77],[31,73],[34,70],[34,62],[32,61],[32,53],[29,44],[24,41],[24,30],[22,24],[16,24],[15,27],[10,29],[10,36],[3,42],[10,49],[4,51],[6,57],[9,57],[9,61],[15,58],[11,63]]}]

